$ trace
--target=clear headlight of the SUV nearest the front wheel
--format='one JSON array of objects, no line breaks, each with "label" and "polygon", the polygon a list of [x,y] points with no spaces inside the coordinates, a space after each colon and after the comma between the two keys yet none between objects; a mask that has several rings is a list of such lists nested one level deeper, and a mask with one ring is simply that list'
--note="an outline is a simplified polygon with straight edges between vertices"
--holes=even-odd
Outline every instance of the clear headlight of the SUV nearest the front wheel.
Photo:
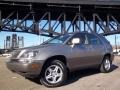
[{"label": "clear headlight of the SUV nearest the front wheel", "polygon": [[34,58],[39,51],[34,50],[34,51],[24,51],[22,55],[20,56],[20,62],[22,63],[30,63],[32,61],[32,58]]}]

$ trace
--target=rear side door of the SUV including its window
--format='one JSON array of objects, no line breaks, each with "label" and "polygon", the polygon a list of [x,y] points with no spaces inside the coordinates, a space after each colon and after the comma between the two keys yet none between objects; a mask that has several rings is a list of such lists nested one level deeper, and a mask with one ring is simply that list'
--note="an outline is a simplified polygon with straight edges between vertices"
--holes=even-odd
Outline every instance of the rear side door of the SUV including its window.
[{"label": "rear side door of the SUV including its window", "polygon": [[89,65],[100,64],[102,56],[104,54],[104,45],[99,37],[94,34],[87,34],[88,45],[86,46],[88,50]]}]

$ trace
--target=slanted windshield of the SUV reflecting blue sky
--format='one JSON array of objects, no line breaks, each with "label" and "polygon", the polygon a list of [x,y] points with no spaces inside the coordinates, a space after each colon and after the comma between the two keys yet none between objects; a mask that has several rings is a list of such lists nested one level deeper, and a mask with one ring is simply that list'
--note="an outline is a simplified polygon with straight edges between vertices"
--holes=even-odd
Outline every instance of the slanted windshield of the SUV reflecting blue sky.
[{"label": "slanted windshield of the SUV reflecting blue sky", "polygon": [[69,36],[70,36],[70,34],[56,36],[56,37],[44,42],[43,44],[55,44],[55,43],[62,44],[69,38]]}]

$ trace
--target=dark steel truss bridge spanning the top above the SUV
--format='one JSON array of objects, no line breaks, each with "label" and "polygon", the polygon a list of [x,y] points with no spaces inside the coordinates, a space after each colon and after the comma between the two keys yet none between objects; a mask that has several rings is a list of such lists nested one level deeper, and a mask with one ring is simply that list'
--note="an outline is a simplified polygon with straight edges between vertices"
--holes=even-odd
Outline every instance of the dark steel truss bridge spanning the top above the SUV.
[{"label": "dark steel truss bridge spanning the top above the SUV", "polygon": [[120,0],[0,0],[0,31],[120,33]]}]

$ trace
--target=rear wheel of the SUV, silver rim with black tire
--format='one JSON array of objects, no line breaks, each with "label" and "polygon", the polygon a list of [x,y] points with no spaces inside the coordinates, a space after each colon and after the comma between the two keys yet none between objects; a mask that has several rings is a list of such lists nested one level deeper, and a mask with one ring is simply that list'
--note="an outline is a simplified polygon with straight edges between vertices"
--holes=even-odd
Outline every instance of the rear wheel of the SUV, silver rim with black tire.
[{"label": "rear wheel of the SUV, silver rim with black tire", "polygon": [[105,56],[101,63],[100,71],[102,73],[108,73],[111,71],[111,68],[112,68],[112,61],[108,56]]}]

